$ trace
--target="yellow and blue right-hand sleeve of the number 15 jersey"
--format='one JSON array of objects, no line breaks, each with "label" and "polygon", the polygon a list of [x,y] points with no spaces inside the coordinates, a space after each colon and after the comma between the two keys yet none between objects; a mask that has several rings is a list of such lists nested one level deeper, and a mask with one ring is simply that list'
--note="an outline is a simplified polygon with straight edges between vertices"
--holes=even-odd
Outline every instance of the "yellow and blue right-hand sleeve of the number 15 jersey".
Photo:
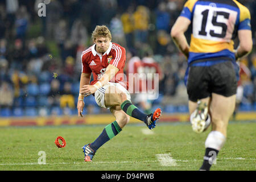
[{"label": "yellow and blue right-hand sleeve of the number 15 jersey", "polygon": [[251,15],[250,11],[245,7],[240,7],[240,23],[238,30],[251,30]]}]

